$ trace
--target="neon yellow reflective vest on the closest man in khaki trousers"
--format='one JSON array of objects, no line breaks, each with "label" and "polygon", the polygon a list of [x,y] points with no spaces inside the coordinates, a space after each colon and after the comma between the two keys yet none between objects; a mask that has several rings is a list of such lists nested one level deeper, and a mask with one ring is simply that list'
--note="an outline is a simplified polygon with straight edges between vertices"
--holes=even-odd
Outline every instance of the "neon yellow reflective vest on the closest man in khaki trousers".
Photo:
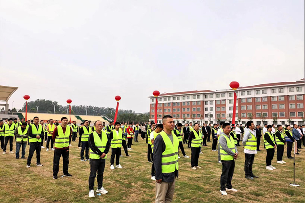
[{"label": "neon yellow reflective vest on the closest man in khaki trousers", "polygon": [[178,146],[179,141],[177,136],[172,131],[173,143],[171,142],[168,135],[162,131],[160,135],[163,138],[165,144],[165,150],[162,152],[161,158],[161,169],[162,173],[173,173],[175,170],[179,169],[178,165]]}]

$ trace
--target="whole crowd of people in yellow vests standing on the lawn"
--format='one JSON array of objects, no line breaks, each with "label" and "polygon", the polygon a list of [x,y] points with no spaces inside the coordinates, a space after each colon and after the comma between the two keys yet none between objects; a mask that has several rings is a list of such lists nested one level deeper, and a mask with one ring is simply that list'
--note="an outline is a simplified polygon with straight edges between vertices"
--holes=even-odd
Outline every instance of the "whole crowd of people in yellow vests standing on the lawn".
[{"label": "whole crowd of people in yellow vests standing on the lawn", "polygon": [[[16,141],[16,159],[26,159],[26,147],[30,145],[27,157],[27,168],[31,167],[32,157],[36,152],[36,166],[43,166],[40,160],[41,149],[54,151],[53,158],[53,179],[58,178],[59,160],[63,157],[63,176],[72,176],[69,172],[69,146],[76,142],[78,135],[78,147],[80,151],[80,161],[90,161],[89,175],[89,197],[94,197],[94,182],[97,176],[98,189],[96,192],[106,194],[108,191],[103,187],[103,172],[106,165],[107,154],[111,148],[110,169],[123,168],[120,165],[120,157],[125,155],[131,157],[128,151],[134,142],[138,142],[138,135],[147,143],[147,159],[152,163],[151,179],[156,181],[156,202],[171,202],[174,195],[175,179],[178,177],[179,148],[183,158],[190,158],[186,155],[184,145],[191,148],[190,167],[193,170],[200,169],[198,165],[199,155],[203,147],[209,147],[208,142],[212,142],[211,150],[217,151],[218,163],[222,164],[222,174],[220,177],[220,192],[228,195],[227,191],[237,192],[231,185],[231,180],[235,168],[235,159],[238,158],[238,147],[242,146],[245,153],[245,178],[254,179],[258,176],[253,174],[252,166],[255,154],[260,151],[260,139],[263,137],[264,148],[267,151],[266,169],[276,169],[272,166],[275,149],[277,149],[278,164],[285,164],[283,161],[284,145],[287,144],[287,158],[292,158],[292,143],[297,141],[298,151],[305,146],[305,126],[293,124],[254,125],[253,121],[248,121],[245,127],[239,124],[221,122],[219,124],[199,125],[199,123],[175,123],[174,119],[167,115],[162,119],[162,123],[156,124],[152,121],[144,123],[132,122],[109,122],[108,125],[102,121],[95,121],[91,126],[91,121],[84,120],[80,126],[74,121],[70,123],[66,117],[55,121],[50,119],[45,124],[37,116],[33,120],[26,122],[22,118],[0,120],[0,141],[3,154],[6,154],[9,144],[9,153],[13,152],[13,139]],[[292,129],[291,129],[292,128]],[[263,132],[263,134],[262,134]],[[45,141],[44,141],[45,140]],[[240,145],[242,141],[242,145]],[[46,146],[43,146],[43,143]],[[50,144],[51,142],[51,144]],[[217,147],[218,146],[218,147]],[[296,153],[299,155],[300,153]],[[216,161],[216,160],[215,160]]]}]

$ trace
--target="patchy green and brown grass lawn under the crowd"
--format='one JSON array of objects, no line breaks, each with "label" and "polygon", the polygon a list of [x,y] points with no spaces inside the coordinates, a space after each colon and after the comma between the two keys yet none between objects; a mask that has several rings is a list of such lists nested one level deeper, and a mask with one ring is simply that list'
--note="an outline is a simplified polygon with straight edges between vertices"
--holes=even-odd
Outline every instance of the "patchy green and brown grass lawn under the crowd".
[{"label": "patchy green and brown grass lawn under the crowd", "polygon": [[[141,138],[140,138],[141,139]],[[78,141],[78,140],[77,140]],[[0,202],[153,202],[155,198],[155,183],[150,179],[151,163],[147,162],[147,144],[139,140],[134,143],[131,157],[121,157],[123,169],[110,170],[110,154],[106,160],[103,186],[108,194],[88,197],[89,162],[80,161],[78,142],[72,142],[70,147],[69,173],[73,177],[60,177],[62,159],[59,165],[58,179],[52,179],[53,151],[41,151],[42,167],[36,167],[36,157],[32,159],[32,167],[26,168],[26,160],[15,159],[15,154],[0,155]],[[261,146],[263,146],[263,141]],[[287,159],[286,148],[284,161],[276,163],[276,153],[273,159],[275,170],[265,169],[266,151],[258,152],[253,164],[253,173],[259,176],[255,180],[245,179],[245,156],[239,147],[239,157],[236,160],[232,185],[237,193],[222,196],[220,190],[221,164],[217,163],[217,152],[209,147],[202,149],[199,157],[201,169],[192,170],[190,158],[179,159],[179,178],[176,180],[174,202],[304,202],[305,162],[304,149],[301,155],[296,155],[296,183],[300,187],[289,186],[293,182],[293,160]],[[44,143],[45,146],[45,143]],[[184,145],[187,155],[190,149]],[[15,152],[16,145],[13,144]],[[179,150],[180,151],[180,150]],[[122,151],[124,153],[124,151]],[[29,146],[26,149],[26,157]],[[181,151],[179,152],[182,155]],[[20,152],[21,156],[21,152]],[[97,182],[95,180],[95,190]],[[95,193],[96,194],[96,193]]]}]

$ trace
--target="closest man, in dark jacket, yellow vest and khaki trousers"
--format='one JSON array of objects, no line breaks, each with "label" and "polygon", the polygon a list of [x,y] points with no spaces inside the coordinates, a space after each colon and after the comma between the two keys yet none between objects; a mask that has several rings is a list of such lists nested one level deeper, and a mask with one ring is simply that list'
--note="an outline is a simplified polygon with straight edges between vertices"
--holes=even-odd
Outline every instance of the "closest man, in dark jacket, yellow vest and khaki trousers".
[{"label": "closest man, in dark jacket, yellow vest and khaki trousers", "polygon": [[154,165],[156,171],[156,203],[172,202],[178,177],[179,141],[173,133],[175,123],[170,115],[162,118],[163,131],[154,139]]}]

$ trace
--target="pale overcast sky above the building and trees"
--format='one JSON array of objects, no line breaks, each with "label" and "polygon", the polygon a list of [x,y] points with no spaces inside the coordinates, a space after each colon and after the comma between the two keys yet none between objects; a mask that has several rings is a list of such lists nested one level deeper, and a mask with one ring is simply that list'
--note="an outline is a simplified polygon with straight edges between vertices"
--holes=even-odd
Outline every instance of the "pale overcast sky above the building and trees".
[{"label": "pale overcast sky above the building and trees", "polygon": [[0,1],[0,84],[148,112],[152,91],[304,77],[304,0]]}]

